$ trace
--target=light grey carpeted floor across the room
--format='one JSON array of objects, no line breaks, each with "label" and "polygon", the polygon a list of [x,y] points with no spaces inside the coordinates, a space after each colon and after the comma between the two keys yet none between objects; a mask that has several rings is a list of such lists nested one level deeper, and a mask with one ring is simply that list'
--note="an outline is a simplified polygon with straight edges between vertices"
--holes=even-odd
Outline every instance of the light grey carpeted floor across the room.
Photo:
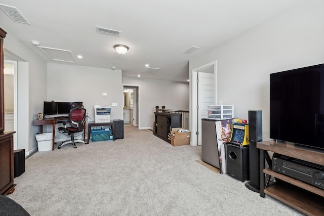
[{"label": "light grey carpeted floor across the room", "polygon": [[124,130],[115,142],[35,153],[8,197],[43,216],[303,215],[198,163],[201,146],[173,147],[148,129]]}]

